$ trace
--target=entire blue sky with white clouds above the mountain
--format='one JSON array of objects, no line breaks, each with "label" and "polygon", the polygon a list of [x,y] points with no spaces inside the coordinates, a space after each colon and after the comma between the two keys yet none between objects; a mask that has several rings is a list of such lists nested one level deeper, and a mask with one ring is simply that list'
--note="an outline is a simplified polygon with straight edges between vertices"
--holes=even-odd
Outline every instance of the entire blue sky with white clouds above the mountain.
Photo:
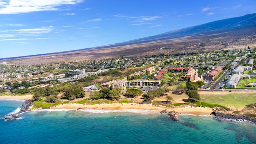
[{"label": "entire blue sky with white clouds above the mountain", "polygon": [[0,0],[0,58],[114,44],[256,12],[256,0]]}]

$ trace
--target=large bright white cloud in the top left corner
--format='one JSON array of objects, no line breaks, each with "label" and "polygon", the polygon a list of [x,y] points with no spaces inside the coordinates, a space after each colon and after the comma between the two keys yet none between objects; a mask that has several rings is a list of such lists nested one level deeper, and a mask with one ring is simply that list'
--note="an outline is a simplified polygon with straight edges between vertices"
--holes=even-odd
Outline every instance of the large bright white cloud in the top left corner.
[{"label": "large bright white cloud in the top left corner", "polygon": [[83,0],[5,0],[0,2],[0,14],[58,10],[57,6],[78,4]]}]

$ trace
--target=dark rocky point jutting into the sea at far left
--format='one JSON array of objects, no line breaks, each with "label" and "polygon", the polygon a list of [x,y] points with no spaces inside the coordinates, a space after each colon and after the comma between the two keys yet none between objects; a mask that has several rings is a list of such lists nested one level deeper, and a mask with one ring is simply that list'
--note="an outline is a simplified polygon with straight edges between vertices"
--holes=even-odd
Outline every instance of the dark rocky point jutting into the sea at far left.
[{"label": "dark rocky point jutting into the sea at far left", "polygon": [[5,120],[14,120],[16,118],[20,118],[20,116],[18,116],[18,114],[21,114],[23,112],[26,112],[29,110],[29,107],[32,106],[33,104],[33,100],[26,100],[24,102],[24,104],[22,104],[22,106],[20,107],[20,110],[16,113],[10,113],[7,114],[4,118]]}]

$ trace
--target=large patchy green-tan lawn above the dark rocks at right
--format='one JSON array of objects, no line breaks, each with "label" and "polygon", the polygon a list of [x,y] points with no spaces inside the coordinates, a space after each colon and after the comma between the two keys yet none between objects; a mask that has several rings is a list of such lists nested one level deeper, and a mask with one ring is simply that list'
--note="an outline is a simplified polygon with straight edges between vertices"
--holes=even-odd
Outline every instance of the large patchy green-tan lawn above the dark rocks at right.
[{"label": "large patchy green-tan lawn above the dark rocks at right", "polygon": [[256,103],[256,92],[219,92],[200,94],[201,101],[222,106],[233,106],[243,108],[244,106]]}]

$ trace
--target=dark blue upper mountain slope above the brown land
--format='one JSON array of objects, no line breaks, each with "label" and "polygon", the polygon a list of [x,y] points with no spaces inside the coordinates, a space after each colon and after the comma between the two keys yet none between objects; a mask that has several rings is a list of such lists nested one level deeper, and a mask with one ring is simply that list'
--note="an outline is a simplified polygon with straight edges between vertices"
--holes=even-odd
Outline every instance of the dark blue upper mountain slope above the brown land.
[{"label": "dark blue upper mountain slope above the brown land", "polygon": [[[198,34],[204,34],[204,33],[213,33],[213,32],[221,33],[221,32],[232,31],[240,28],[250,28],[252,26],[256,26],[256,13],[247,14],[245,16],[240,16],[236,18],[228,18],[224,20],[209,22],[206,24],[198,25],[198,26],[191,26],[188,28],[165,32],[155,36],[148,36],[148,37],[139,38],[136,40],[120,42],[120,43],[112,44],[109,46],[124,46],[127,44],[138,44],[143,42],[151,42],[155,40],[166,40],[170,38],[179,38],[179,37],[192,36],[192,35],[198,35]],[[109,47],[109,46],[102,46],[102,47]]]}]

